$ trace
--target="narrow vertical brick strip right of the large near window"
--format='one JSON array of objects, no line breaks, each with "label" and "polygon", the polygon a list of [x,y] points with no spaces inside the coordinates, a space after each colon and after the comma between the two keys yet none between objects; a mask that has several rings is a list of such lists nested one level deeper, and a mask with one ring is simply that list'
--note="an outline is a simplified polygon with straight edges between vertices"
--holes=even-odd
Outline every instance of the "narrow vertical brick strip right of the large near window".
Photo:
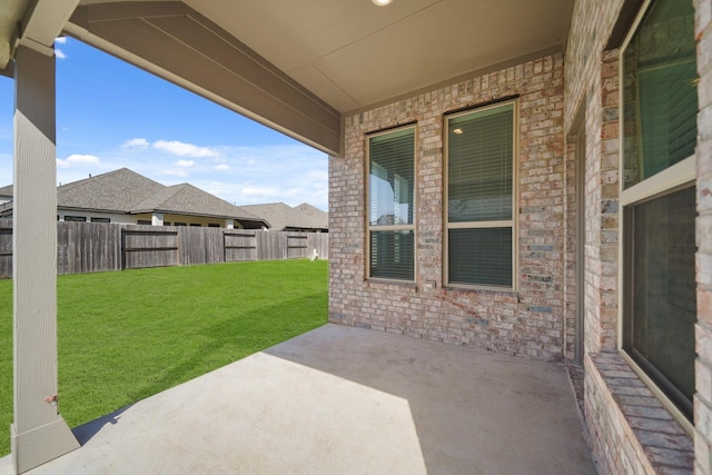
[{"label": "narrow vertical brick strip right of the large near window", "polygon": [[698,328],[695,469],[712,474],[712,0],[696,0],[698,44]]}]

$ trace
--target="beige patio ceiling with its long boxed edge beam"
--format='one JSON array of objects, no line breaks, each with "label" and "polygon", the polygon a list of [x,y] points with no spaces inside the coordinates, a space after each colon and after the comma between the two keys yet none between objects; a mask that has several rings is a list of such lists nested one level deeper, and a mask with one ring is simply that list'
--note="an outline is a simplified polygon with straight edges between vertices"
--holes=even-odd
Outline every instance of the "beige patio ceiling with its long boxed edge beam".
[{"label": "beige patio ceiling with its long boxed edge beam", "polygon": [[[2,43],[30,1],[0,8]],[[562,49],[573,0],[80,0],[66,31],[339,152],[340,118]],[[6,55],[7,56],[7,55]]]}]

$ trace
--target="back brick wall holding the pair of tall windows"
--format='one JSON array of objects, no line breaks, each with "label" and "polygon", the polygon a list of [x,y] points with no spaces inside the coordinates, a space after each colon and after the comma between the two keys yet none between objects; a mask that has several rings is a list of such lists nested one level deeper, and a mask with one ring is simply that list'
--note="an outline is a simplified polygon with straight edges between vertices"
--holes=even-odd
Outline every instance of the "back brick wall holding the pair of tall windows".
[{"label": "back brick wall holding the pair of tall windows", "polygon": [[[537,358],[564,356],[563,57],[546,56],[345,119],[329,161],[329,319]],[[443,287],[444,113],[518,96],[517,291]],[[416,278],[367,280],[366,133],[416,122]],[[427,284],[427,285],[426,285]]]}]

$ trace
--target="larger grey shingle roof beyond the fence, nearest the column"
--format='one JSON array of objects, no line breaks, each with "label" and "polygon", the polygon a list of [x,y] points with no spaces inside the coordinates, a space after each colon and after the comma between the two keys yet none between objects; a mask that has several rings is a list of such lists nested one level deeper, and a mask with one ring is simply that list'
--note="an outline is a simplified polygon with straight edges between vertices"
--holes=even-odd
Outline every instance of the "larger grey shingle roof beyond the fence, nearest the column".
[{"label": "larger grey shingle roof beyond the fence, nearest the column", "polygon": [[[9,190],[9,191],[8,191]],[[12,186],[0,188],[12,196]],[[3,206],[2,211],[12,205]],[[108,212],[170,212],[269,222],[189,184],[165,186],[128,168],[72,181],[57,188],[57,207]]]}]

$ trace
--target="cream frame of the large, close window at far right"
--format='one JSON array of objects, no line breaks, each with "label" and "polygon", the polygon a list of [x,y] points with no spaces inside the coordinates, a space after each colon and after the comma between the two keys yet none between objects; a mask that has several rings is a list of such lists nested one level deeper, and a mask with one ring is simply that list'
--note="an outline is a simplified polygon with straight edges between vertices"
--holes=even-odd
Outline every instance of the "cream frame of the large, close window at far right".
[{"label": "cream frame of the large, close window at far right", "polygon": [[619,120],[619,141],[621,146],[619,147],[619,199],[620,199],[620,211],[619,211],[619,317],[617,317],[617,349],[625,359],[625,362],[631,366],[631,368],[635,372],[635,374],[641,378],[641,380],[651,389],[651,392],[655,395],[655,397],[665,406],[665,408],[673,415],[673,417],[680,423],[680,425],[688,432],[689,435],[694,434],[694,426],[688,419],[688,417],[678,408],[678,406],[668,397],[665,393],[657,386],[657,384],[641,368],[641,366],[627,354],[627,352],[623,348],[624,345],[624,331],[625,331],[625,298],[627,297],[625,293],[625,209],[630,206],[634,206],[646,200],[651,200],[657,197],[662,197],[664,195],[669,195],[679,189],[686,188],[691,185],[694,185],[696,179],[696,170],[695,170],[695,155],[679,161],[678,164],[668,167],[666,169],[645,178],[637,184],[631,186],[630,188],[624,188],[625,179],[625,147],[623,146],[625,139],[625,120],[623,113],[624,107],[624,87],[625,83],[625,68],[622,67],[625,60],[625,50],[630,42],[632,41],[635,32],[637,31],[645,13],[647,12],[653,0],[645,0],[643,6],[641,7],[635,21],[631,26],[623,44],[621,46],[619,53],[619,108],[620,108],[620,120]]}]

